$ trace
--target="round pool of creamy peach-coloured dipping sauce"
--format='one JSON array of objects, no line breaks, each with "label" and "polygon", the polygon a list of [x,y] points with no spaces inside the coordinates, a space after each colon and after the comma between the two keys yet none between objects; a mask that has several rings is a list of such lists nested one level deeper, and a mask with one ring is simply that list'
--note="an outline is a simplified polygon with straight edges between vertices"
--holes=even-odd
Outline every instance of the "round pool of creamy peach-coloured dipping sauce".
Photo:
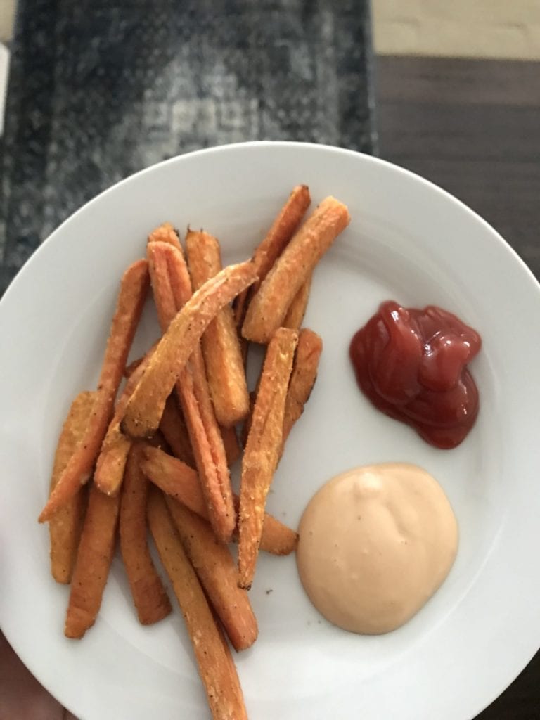
[{"label": "round pool of creamy peach-coloured dipping sauce", "polygon": [[448,575],[458,528],[422,468],[383,463],[345,472],[300,521],[297,564],[313,605],[351,632],[381,634],[418,613]]}]

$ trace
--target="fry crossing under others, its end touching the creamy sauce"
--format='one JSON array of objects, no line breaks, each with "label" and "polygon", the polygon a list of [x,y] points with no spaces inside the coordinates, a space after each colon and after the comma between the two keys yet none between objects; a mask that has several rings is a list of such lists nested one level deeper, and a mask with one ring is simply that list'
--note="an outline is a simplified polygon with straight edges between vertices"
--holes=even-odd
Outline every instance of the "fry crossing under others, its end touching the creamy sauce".
[{"label": "fry crossing under others, its end touching the creamy sauce", "polygon": [[[141,469],[148,480],[171,498],[186,505],[186,508],[205,520],[208,519],[207,505],[204,503],[199,478],[194,469],[163,450],[150,446],[145,446],[143,449]],[[238,505],[238,498],[234,497],[234,500],[235,505]],[[298,535],[294,530],[280,523],[269,513],[264,513],[261,550],[273,555],[288,555],[294,550],[297,541]]]}]

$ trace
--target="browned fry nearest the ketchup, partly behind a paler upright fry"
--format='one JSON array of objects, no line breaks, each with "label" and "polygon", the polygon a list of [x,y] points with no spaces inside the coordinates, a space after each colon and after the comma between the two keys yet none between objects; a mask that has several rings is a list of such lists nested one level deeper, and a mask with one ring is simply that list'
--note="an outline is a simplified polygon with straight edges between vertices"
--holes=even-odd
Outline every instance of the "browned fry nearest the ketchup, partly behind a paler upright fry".
[{"label": "browned fry nearest the ketchup, partly behind a paler upright fry", "polygon": [[320,354],[323,341],[313,330],[303,328],[298,335],[298,345],[294,356],[285,415],[283,418],[282,452],[292,426],[304,412],[304,405],[310,399],[311,391],[317,379]]}]

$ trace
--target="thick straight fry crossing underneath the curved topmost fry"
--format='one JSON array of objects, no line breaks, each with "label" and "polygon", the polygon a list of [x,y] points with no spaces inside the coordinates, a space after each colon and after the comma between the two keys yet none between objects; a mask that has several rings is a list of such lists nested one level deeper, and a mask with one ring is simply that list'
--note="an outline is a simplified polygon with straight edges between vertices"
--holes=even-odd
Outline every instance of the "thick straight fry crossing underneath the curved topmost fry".
[{"label": "thick straight fry crossing underneath the curved topmost fry", "polygon": [[[199,289],[221,269],[217,240],[208,233],[188,230],[186,251],[194,289]],[[202,336],[202,354],[217,422],[230,428],[249,410],[248,386],[233,310],[226,305]]]}]

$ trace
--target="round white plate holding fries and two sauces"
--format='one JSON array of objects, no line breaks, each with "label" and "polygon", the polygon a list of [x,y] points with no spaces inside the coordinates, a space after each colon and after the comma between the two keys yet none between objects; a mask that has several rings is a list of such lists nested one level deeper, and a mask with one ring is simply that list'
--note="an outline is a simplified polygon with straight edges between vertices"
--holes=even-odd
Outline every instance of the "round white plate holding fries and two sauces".
[{"label": "round white plate holding fries and two sauces", "polygon": [[[334,194],[350,227],[315,273],[306,324],[325,349],[269,497],[296,526],[332,475],[382,461],[423,465],[446,490],[461,543],[436,596],[392,634],[363,637],[310,606],[294,557],[261,557],[252,590],[260,636],[237,656],[254,720],[463,720],[497,696],[540,643],[539,285],[480,217],[400,168],[346,150],[250,143],[174,158],[114,186],[35,253],[0,305],[0,618],[37,678],[85,720],[208,716],[178,611],[138,625],[114,560],[96,625],[63,637],[68,589],[49,575],[48,494],[69,402],[96,382],[118,281],[163,220],[248,256],[294,184]],[[361,396],[352,334],[382,300],[435,303],[482,333],[482,408],[456,450],[425,444]],[[133,354],[153,340],[145,316]],[[272,590],[268,593],[268,590]]]}]

